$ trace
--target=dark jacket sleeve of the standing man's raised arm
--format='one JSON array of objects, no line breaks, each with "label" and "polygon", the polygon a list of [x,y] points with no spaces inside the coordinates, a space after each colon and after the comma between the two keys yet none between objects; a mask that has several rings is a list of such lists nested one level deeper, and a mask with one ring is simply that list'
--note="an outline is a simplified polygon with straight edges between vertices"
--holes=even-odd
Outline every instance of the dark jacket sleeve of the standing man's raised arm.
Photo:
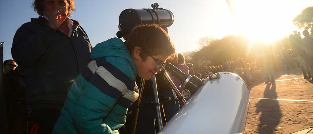
[{"label": "dark jacket sleeve of the standing man's raised arm", "polygon": [[56,31],[49,26],[39,29],[30,23],[25,23],[18,28],[11,48],[13,59],[23,66],[35,64],[45,53],[56,34]]}]

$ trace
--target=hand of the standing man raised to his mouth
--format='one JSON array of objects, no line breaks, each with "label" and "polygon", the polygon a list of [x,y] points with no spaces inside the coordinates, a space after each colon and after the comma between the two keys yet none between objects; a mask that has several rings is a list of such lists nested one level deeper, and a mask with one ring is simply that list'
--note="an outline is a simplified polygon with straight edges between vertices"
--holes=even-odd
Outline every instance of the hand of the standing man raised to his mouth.
[{"label": "hand of the standing man raised to his mouth", "polygon": [[66,20],[67,14],[65,11],[65,7],[58,7],[51,12],[49,26],[54,30],[58,30],[62,23]]}]

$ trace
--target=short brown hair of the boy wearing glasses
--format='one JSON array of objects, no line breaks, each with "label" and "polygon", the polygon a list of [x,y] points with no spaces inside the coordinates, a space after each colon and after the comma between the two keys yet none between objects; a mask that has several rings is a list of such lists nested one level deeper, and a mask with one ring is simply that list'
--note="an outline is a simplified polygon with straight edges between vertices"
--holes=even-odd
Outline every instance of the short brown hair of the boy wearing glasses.
[{"label": "short brown hair of the boy wearing glasses", "polygon": [[144,61],[148,55],[164,55],[169,56],[169,58],[175,55],[175,46],[170,37],[157,24],[138,25],[134,27],[125,44],[130,52],[134,47],[140,47],[140,57]]}]

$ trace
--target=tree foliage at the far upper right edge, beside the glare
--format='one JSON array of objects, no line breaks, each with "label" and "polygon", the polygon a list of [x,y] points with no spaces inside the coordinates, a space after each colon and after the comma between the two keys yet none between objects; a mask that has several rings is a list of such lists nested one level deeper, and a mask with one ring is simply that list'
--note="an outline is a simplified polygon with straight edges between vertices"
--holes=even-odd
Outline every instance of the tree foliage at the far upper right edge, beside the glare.
[{"label": "tree foliage at the far upper right edge, beside the glare", "polygon": [[292,22],[300,29],[311,29],[311,34],[313,34],[313,6],[303,9]]}]

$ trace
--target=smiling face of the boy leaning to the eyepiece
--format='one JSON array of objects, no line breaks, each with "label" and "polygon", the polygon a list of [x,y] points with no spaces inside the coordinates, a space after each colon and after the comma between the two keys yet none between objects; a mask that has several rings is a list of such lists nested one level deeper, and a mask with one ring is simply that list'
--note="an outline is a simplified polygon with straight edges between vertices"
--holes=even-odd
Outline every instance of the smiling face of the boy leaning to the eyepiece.
[{"label": "smiling face of the boy leaning to the eyepiece", "polygon": [[[137,49],[135,47],[134,49],[134,53],[132,55],[134,63],[136,65],[137,68],[137,74],[139,75],[139,77],[141,77],[142,79],[148,80],[150,79],[153,75],[159,73],[161,71],[161,68],[156,69],[156,64],[157,61],[163,62],[165,63],[168,56],[164,56],[164,55],[151,55],[151,56],[147,56],[146,61],[144,61],[140,56],[140,51],[141,49]],[[155,58],[155,59],[153,59]]]}]

